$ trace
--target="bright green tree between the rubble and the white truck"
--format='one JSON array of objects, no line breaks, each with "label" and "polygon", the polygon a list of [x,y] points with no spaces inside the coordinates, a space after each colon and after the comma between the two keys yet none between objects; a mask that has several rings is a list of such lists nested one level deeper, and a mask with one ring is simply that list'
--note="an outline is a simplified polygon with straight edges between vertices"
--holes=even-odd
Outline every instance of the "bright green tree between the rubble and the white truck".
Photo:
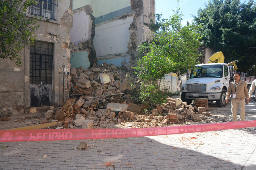
[{"label": "bright green tree between the rubble and the white truck", "polygon": [[[178,77],[193,68],[198,59],[198,35],[195,24],[182,26],[180,8],[169,19],[161,19],[156,15],[156,23],[151,25],[152,39],[139,46],[142,57],[138,61],[136,73],[142,80],[142,101],[156,101],[161,98],[157,90],[156,80],[161,80],[165,74],[177,73]],[[159,100],[158,100],[159,102]]]}]

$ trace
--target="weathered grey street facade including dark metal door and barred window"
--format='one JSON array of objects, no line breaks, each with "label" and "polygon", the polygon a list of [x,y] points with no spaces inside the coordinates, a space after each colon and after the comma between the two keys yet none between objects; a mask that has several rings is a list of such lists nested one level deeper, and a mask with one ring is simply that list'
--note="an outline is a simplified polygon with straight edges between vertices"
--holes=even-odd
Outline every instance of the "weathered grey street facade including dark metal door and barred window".
[{"label": "weathered grey street facade including dark metal door and barred window", "polygon": [[34,33],[34,46],[20,52],[22,67],[0,58],[1,117],[26,114],[32,107],[58,107],[64,100],[63,76],[59,72],[62,65],[66,72],[70,69],[72,1],[37,1],[28,8],[26,17],[42,17],[42,21]]}]

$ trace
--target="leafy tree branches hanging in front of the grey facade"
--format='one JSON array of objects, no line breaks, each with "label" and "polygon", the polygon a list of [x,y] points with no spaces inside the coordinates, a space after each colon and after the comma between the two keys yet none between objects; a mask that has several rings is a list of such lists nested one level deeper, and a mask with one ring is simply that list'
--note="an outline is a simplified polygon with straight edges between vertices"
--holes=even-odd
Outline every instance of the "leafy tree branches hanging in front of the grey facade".
[{"label": "leafy tree branches hanging in front of the grey facade", "polygon": [[[0,1],[0,58],[10,59],[22,65],[19,52],[33,44],[33,32],[38,29],[35,18],[25,16],[27,8],[37,2],[33,0]],[[40,19],[39,19],[40,20]]]}]

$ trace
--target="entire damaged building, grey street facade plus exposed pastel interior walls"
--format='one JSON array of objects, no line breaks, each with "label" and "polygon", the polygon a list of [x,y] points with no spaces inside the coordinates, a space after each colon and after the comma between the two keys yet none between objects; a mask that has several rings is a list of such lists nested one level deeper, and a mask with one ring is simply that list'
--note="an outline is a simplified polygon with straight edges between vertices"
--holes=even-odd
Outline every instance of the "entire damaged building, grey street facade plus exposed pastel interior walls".
[{"label": "entire damaged building, grey street facade plus exposed pastel interior walls", "polygon": [[155,21],[155,0],[37,1],[26,17],[42,21],[35,45],[20,52],[22,67],[0,58],[0,117],[62,106],[73,88],[71,66],[133,67]]}]

